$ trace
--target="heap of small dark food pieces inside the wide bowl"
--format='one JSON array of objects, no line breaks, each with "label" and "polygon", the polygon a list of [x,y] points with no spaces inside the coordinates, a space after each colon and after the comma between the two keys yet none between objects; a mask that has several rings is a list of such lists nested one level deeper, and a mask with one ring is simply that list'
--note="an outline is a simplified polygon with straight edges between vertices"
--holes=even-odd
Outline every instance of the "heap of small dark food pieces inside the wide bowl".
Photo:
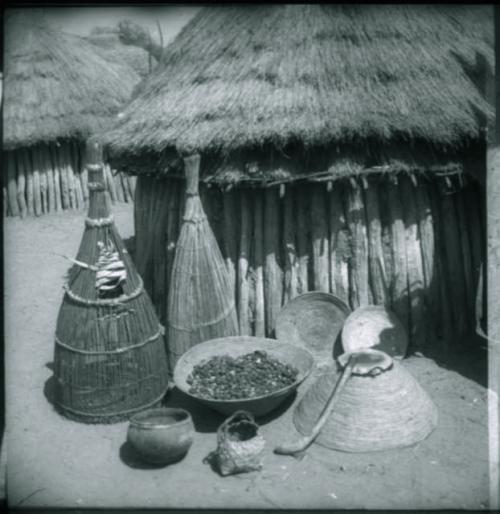
[{"label": "heap of small dark food pieces inside the wide bowl", "polygon": [[210,400],[263,396],[292,385],[299,370],[256,350],[239,357],[216,355],[193,367],[189,393]]}]

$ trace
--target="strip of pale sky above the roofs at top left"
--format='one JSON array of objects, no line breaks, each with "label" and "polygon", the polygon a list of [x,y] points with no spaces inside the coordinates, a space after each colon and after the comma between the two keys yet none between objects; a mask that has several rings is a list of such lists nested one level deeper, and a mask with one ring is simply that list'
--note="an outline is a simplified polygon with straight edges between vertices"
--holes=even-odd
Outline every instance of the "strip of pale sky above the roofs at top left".
[{"label": "strip of pale sky above the roofs at top left", "polygon": [[112,7],[44,7],[46,19],[65,32],[86,36],[93,27],[115,26],[119,21],[129,19],[149,28],[158,39],[157,21],[160,23],[164,44],[170,42],[182,27],[199,11],[195,5],[113,5]]}]

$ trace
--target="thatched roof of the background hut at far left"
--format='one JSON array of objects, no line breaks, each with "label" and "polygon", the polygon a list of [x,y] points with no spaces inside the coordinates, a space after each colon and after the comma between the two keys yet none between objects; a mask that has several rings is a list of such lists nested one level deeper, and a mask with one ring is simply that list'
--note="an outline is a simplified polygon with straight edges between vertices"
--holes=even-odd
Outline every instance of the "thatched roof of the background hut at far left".
[{"label": "thatched roof of the background hut at far left", "polygon": [[29,11],[5,20],[3,141],[6,149],[107,128],[140,77],[83,38]]}]

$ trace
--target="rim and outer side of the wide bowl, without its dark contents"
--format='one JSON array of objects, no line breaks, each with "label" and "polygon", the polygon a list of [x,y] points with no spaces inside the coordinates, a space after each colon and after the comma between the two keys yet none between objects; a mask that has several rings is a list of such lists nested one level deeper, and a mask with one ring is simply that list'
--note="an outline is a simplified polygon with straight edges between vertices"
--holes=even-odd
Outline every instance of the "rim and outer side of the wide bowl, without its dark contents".
[{"label": "rim and outer side of the wide bowl, without its dark contents", "polygon": [[[243,400],[209,400],[189,392],[187,378],[195,365],[215,356],[239,357],[256,350],[266,351],[270,357],[296,367],[299,370],[297,380],[273,393]],[[299,386],[309,375],[313,364],[314,358],[307,350],[275,339],[251,336],[222,337],[197,344],[182,355],[175,365],[174,382],[182,392],[222,414],[230,415],[237,410],[246,410],[254,416],[264,416],[278,407]]]}]

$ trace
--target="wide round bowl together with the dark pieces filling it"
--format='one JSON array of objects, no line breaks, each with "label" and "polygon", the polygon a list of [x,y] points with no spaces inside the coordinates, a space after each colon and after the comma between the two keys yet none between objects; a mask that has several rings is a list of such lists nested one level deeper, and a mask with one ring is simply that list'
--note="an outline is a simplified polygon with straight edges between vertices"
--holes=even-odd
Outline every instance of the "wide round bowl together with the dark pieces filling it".
[{"label": "wide round bowl together with the dark pieces filling it", "polygon": [[182,355],[174,382],[183,393],[222,414],[246,410],[259,417],[289,397],[313,364],[306,349],[275,339],[223,337]]}]

